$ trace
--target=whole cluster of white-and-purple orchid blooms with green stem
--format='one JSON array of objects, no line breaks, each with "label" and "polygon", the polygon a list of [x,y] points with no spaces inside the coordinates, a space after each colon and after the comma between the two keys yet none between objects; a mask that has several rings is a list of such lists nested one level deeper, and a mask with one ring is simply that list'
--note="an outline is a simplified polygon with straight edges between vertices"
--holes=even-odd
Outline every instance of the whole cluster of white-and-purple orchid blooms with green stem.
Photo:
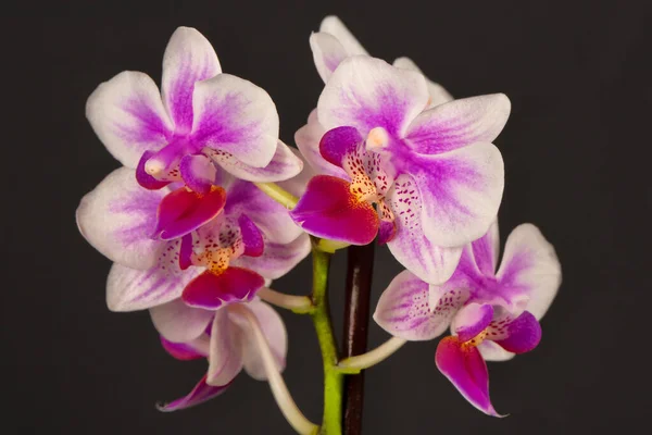
[{"label": "whole cluster of white-and-purple orchid blooms with green stem", "polygon": [[[450,331],[437,368],[473,406],[499,415],[486,361],[538,345],[539,320],[561,283],[554,249],[531,224],[507,237],[499,266],[504,169],[492,141],[510,100],[453,99],[408,58],[389,64],[369,55],[335,16],[310,47],[325,86],[294,136],[298,150],[278,138],[267,92],[223,73],[192,28],[173,34],[161,91],[146,74],[123,72],[88,99],[92,128],[123,164],[77,210],[84,237],[114,262],[108,306],[149,310],[171,356],[208,360],[187,396],[159,408],[218,396],[244,370],[269,383],[298,433],[340,433],[344,375]],[[339,360],[325,303],[328,258],[374,239],[405,268],[374,313],[392,337]],[[312,295],[271,288],[311,251]],[[283,382],[287,334],[269,303],[315,323],[325,364],[321,425]]]}]

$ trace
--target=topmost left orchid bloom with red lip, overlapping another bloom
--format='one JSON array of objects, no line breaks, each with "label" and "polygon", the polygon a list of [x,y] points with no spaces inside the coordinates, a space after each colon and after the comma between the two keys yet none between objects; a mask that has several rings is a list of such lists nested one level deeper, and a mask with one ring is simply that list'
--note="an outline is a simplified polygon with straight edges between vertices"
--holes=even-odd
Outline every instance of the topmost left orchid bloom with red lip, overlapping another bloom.
[{"label": "topmost left orchid bloom with red lip, overlapping another bloom", "polygon": [[184,184],[163,198],[162,213],[174,232],[161,231],[160,237],[188,234],[221,212],[224,190],[215,165],[253,182],[288,179],[301,171],[302,162],[278,139],[278,114],[267,92],[222,73],[213,47],[196,29],[173,34],[161,88],[159,94],[149,76],[126,71],[101,84],[86,107],[99,138],[136,169],[141,186]]}]

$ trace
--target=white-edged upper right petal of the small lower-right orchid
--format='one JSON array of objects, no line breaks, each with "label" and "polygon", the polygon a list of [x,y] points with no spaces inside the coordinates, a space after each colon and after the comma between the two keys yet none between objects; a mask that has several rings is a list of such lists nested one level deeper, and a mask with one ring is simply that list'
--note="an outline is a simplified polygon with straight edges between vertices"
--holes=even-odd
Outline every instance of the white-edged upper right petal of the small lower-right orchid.
[{"label": "white-edged upper right petal of the small lower-right orchid", "polygon": [[562,283],[562,266],[539,228],[522,224],[507,237],[497,277],[511,293],[527,296],[525,308],[541,319]]}]

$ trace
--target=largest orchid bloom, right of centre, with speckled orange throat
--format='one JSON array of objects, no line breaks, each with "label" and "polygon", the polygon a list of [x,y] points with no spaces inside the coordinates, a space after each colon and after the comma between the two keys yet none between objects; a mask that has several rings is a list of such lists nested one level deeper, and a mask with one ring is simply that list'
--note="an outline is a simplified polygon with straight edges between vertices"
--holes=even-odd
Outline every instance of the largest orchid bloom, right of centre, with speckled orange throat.
[{"label": "largest orchid bloom, right of centre, with speckled orange throat", "polygon": [[338,172],[314,177],[291,214],[337,241],[365,245],[379,232],[399,262],[439,284],[498,212],[504,172],[491,141],[510,101],[489,95],[427,109],[428,101],[422,74],[344,59],[317,104],[319,154]]}]

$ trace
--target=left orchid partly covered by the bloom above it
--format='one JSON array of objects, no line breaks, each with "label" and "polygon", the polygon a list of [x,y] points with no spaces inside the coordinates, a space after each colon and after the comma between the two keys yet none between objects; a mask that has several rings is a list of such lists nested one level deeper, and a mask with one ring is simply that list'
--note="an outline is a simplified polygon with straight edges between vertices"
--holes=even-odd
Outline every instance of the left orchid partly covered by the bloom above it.
[{"label": "left orchid partly covered by the bloom above it", "polygon": [[134,171],[123,167],[84,197],[77,209],[79,231],[115,262],[106,289],[111,310],[142,310],[181,296],[211,309],[249,301],[263,278],[283,276],[308,256],[310,239],[287,209],[252,183],[223,174],[223,185],[224,212],[171,240],[152,237],[168,187],[145,189]]}]

